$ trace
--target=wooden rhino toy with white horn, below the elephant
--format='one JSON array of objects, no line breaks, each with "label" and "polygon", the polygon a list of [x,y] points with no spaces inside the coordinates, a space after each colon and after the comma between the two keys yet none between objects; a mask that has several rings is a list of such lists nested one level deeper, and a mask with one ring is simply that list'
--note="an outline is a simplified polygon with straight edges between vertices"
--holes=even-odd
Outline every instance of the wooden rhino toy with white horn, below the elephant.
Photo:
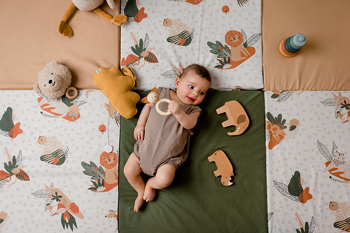
[{"label": "wooden rhino toy with white horn, below the elephant", "polygon": [[214,175],[215,177],[221,176],[221,184],[223,184],[224,186],[230,186],[233,184],[231,182],[231,176],[234,176],[233,168],[226,154],[223,151],[215,151],[212,155],[208,157],[208,161],[215,162],[217,170],[214,171]]}]

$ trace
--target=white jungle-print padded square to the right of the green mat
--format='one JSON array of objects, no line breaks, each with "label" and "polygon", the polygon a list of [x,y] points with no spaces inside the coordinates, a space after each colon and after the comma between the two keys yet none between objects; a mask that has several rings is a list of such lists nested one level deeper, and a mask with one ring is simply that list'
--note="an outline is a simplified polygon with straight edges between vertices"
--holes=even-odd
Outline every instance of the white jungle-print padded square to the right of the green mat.
[{"label": "white jungle-print padded square to the right of the green mat", "polygon": [[266,91],[269,232],[350,229],[350,91]]}]

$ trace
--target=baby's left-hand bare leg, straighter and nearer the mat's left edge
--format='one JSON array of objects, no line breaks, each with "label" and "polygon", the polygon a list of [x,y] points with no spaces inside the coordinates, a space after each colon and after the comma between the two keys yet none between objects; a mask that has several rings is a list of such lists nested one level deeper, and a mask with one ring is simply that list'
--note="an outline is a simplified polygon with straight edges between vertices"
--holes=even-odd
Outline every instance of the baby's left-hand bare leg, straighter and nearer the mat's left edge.
[{"label": "baby's left-hand bare leg, straighter and nearer the mat's left edge", "polygon": [[132,188],[134,188],[134,190],[137,192],[137,198],[133,206],[133,210],[135,212],[138,212],[139,208],[144,203],[143,194],[145,185],[140,175],[142,170],[139,163],[139,158],[135,155],[135,153],[132,153],[124,166],[124,175]]}]

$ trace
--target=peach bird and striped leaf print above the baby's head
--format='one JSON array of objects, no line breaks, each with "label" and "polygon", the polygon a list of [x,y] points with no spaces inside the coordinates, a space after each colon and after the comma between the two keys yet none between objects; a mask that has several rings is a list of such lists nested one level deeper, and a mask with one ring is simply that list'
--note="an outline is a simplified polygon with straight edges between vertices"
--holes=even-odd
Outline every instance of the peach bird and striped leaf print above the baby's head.
[{"label": "peach bird and striped leaf print above the baby's head", "polygon": [[164,19],[163,25],[169,27],[167,42],[179,46],[187,46],[193,39],[194,30],[190,29],[181,19]]}]

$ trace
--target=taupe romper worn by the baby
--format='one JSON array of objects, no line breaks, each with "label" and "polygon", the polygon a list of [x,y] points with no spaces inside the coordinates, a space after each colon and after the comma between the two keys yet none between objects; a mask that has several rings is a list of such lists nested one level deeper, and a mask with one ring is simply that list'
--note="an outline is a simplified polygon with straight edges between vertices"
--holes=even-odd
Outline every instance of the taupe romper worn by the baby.
[{"label": "taupe romper worn by the baby", "polygon": [[[170,99],[169,91],[169,88],[158,87],[159,99]],[[196,105],[180,107],[187,115],[201,112]],[[162,103],[159,108],[166,112],[167,104]],[[187,159],[189,136],[192,134],[193,129],[183,128],[172,114],[160,115],[153,104],[145,125],[144,139],[134,145],[134,153],[140,159],[142,172],[155,176],[157,168],[164,164],[171,164],[177,169]]]}]

